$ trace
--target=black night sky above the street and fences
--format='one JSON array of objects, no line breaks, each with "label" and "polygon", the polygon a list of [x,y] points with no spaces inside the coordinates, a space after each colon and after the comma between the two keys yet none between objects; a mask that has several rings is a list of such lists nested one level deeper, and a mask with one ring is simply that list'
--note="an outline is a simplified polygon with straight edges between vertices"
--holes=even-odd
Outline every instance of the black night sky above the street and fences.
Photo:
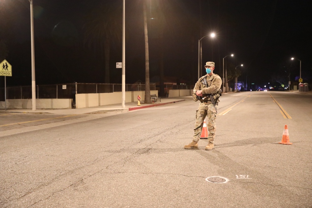
[{"label": "black night sky above the street and fences", "polygon": [[[148,2],[150,81],[186,84],[197,81],[198,40],[202,66],[214,61],[214,73],[242,70],[238,80],[263,86],[278,80],[312,85],[311,11],[309,1],[146,0]],[[143,0],[126,0],[126,83],[145,81]],[[34,0],[36,85],[105,83],[104,39],[88,25],[109,19],[110,83],[121,83],[122,0]],[[153,18],[153,19],[151,19]],[[101,21],[99,21],[101,22]],[[103,30],[103,29],[102,29]],[[108,30],[108,29],[107,29]],[[106,31],[107,31],[106,30]],[[7,86],[31,85],[30,4],[0,0],[0,58],[12,65]],[[6,48],[6,49],[5,49]],[[0,60],[0,61],[2,61]],[[0,77],[0,87],[4,87]]]}]

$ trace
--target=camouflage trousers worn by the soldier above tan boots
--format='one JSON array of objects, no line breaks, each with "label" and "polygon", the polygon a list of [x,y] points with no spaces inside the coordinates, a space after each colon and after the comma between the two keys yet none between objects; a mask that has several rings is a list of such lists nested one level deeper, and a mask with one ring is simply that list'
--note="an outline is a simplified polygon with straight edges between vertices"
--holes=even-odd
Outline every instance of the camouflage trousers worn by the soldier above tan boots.
[{"label": "camouflage trousers worn by the soldier above tan boots", "polygon": [[196,121],[194,128],[194,136],[193,141],[198,142],[202,133],[202,126],[204,124],[204,119],[206,119],[207,132],[208,132],[208,141],[209,143],[214,142],[214,138],[216,137],[216,109],[213,104],[205,104],[201,103],[198,106],[196,111]]}]

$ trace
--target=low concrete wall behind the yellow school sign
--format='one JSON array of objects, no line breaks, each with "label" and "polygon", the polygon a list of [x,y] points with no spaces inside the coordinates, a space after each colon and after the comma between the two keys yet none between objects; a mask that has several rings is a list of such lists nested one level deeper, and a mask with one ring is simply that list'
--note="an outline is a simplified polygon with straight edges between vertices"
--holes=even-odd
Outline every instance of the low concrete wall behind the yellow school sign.
[{"label": "low concrete wall behind the yellow school sign", "polygon": [[[71,109],[73,99],[36,99],[36,109]],[[5,101],[0,101],[5,108]],[[7,99],[7,109],[32,109],[32,99]]]}]

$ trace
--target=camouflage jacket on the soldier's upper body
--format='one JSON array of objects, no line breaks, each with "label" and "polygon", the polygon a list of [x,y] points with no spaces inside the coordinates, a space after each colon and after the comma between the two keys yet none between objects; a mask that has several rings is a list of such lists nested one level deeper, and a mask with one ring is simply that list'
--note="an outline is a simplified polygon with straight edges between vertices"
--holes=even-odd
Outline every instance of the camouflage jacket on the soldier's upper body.
[{"label": "camouflage jacket on the soldier's upper body", "polygon": [[[204,84],[203,79],[206,79],[208,87]],[[194,101],[197,101],[198,98],[196,97],[196,91],[202,90],[202,98],[200,101],[205,102],[207,104],[212,103],[210,101],[210,94],[212,94],[215,102],[218,102],[218,99],[220,97],[220,88],[222,85],[221,77],[217,74],[213,74],[211,76],[205,75],[202,76],[195,84],[195,87],[193,89],[193,99]]]}]

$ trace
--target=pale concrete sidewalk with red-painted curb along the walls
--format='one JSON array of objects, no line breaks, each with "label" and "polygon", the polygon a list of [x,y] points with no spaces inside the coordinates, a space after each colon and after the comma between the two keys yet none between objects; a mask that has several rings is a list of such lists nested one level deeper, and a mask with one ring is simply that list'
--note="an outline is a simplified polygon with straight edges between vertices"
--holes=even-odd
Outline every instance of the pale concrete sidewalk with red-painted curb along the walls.
[{"label": "pale concrete sidewalk with red-painted curb along the walls", "polygon": [[96,107],[80,108],[80,109],[1,109],[0,112],[10,112],[10,113],[28,113],[28,114],[60,114],[60,115],[73,115],[73,114],[95,114],[95,113],[104,113],[108,111],[132,111],[143,108],[150,108],[159,105],[172,104],[185,100],[193,99],[192,96],[182,96],[174,98],[162,98],[161,102],[157,101],[152,104],[144,104],[141,102],[141,105],[138,106],[138,102],[125,103],[125,107],[121,107],[120,104],[110,104],[102,105]]}]

